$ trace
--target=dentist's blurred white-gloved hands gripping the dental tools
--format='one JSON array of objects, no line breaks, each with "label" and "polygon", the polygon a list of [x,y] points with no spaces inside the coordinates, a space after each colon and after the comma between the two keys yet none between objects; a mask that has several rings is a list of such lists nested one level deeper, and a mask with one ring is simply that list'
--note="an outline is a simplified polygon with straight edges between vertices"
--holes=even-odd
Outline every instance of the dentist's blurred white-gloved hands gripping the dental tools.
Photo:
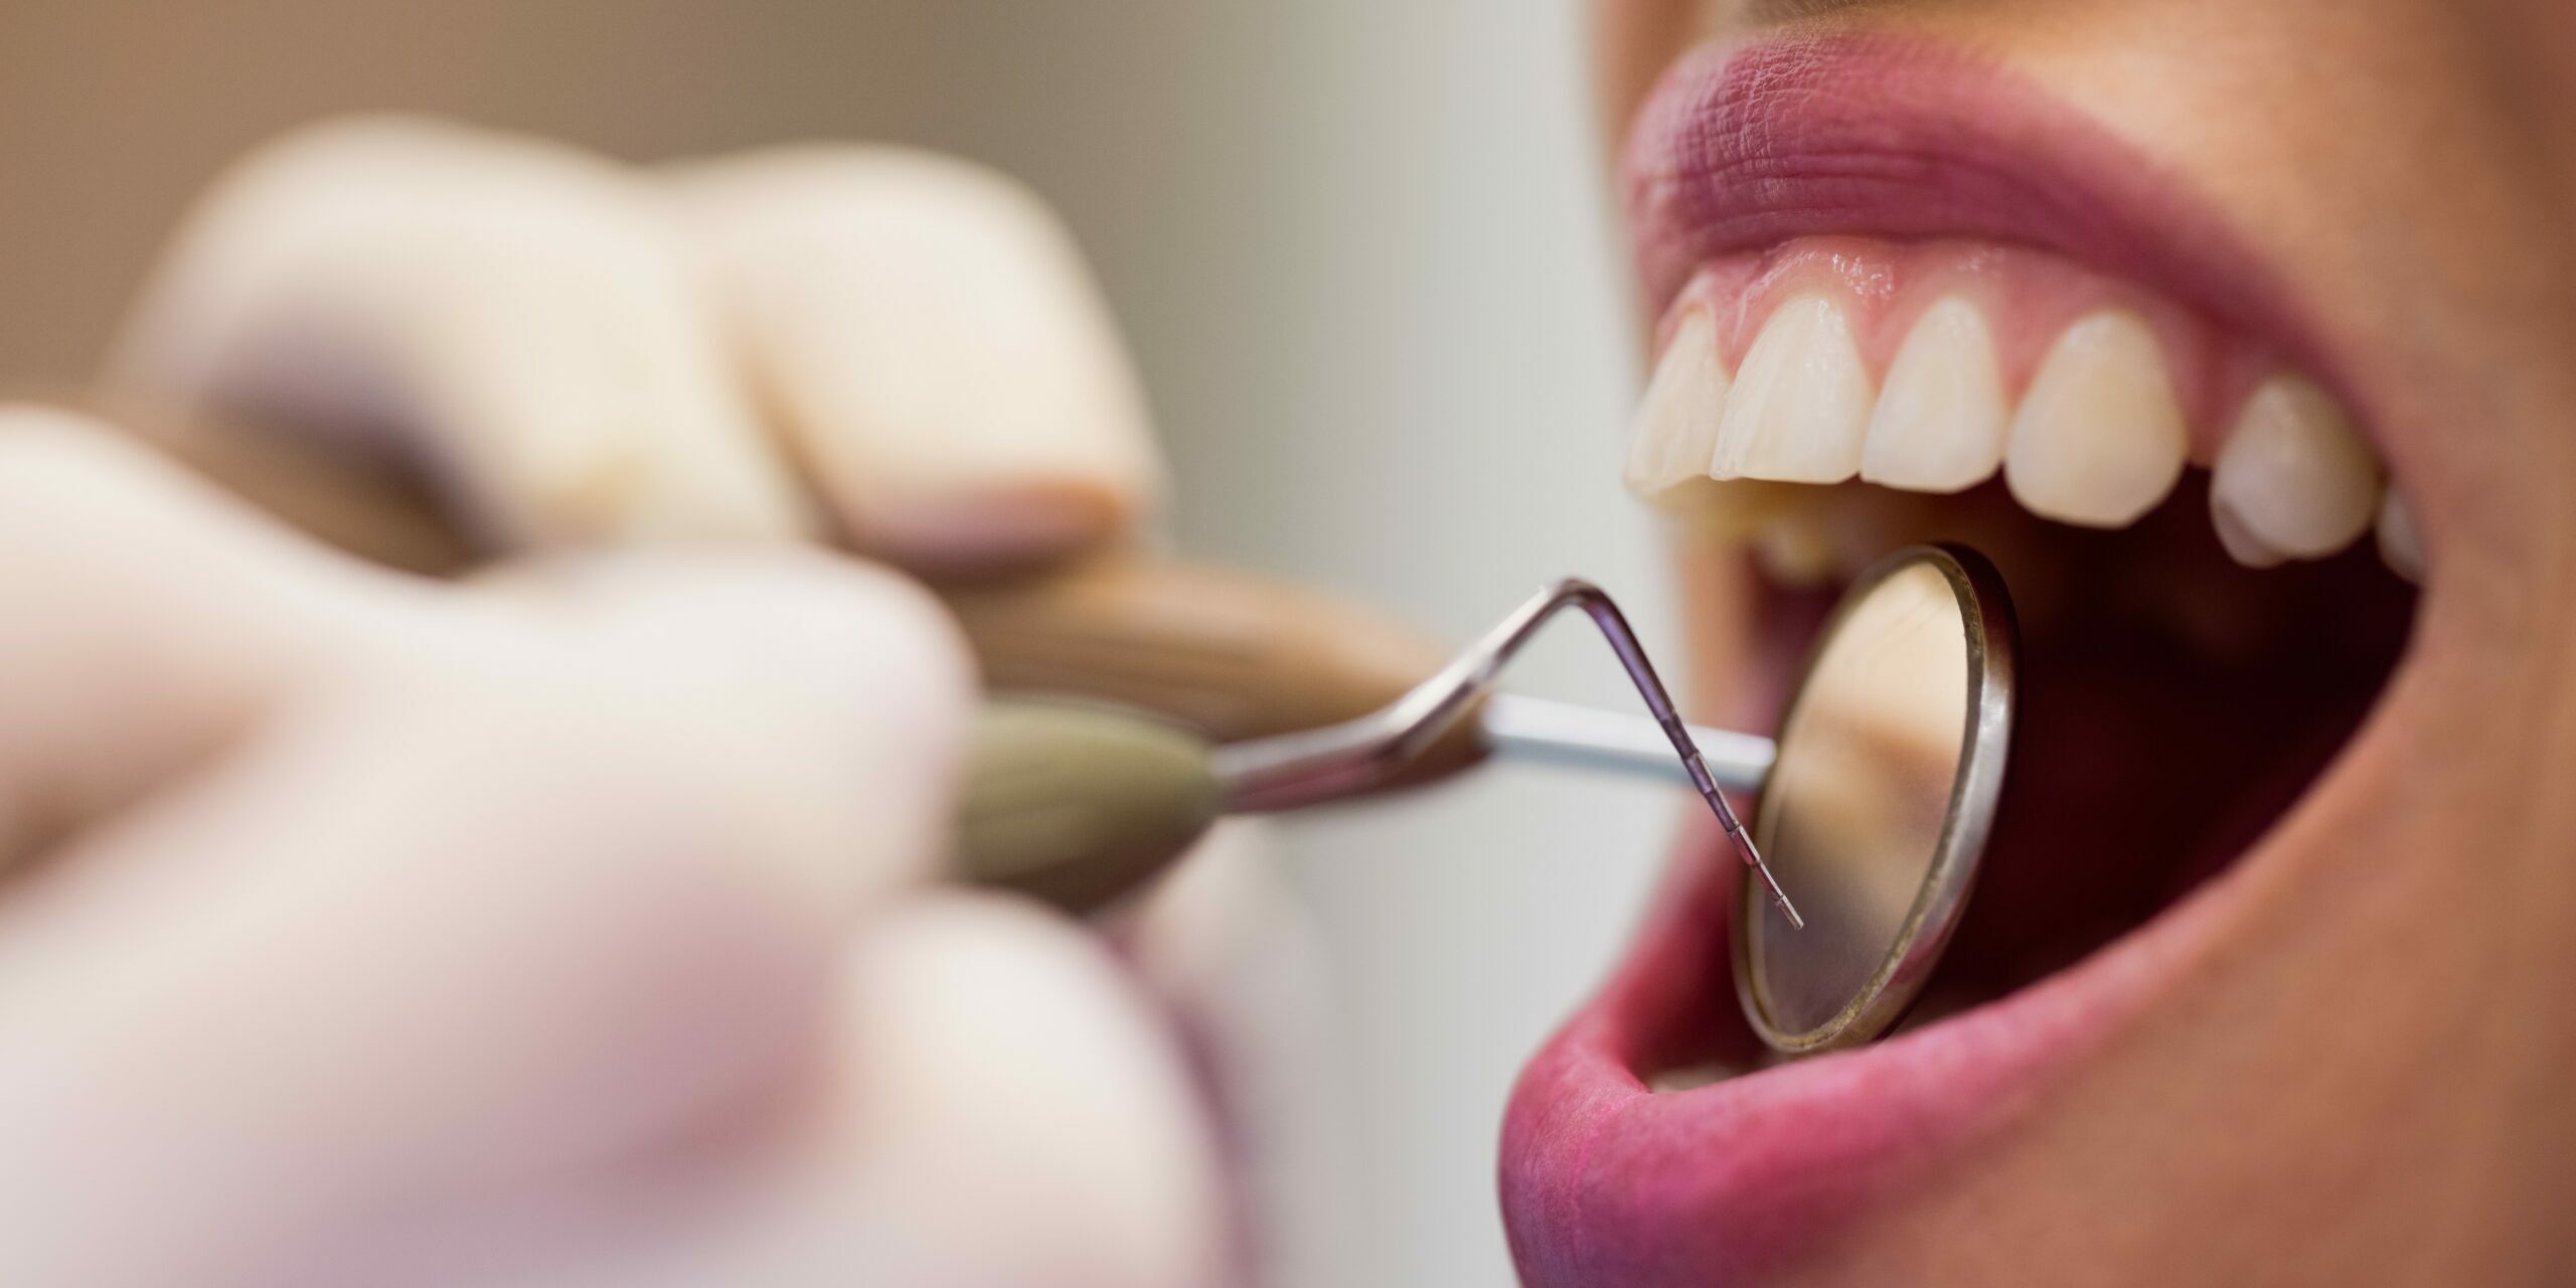
[{"label": "dentist's blurred white-gloved hands gripping the dental tools", "polygon": [[[799,546],[945,569],[1149,507],[1123,353],[1018,188],[322,126],[188,222],[111,384],[551,556],[392,574],[0,415],[0,1283],[1236,1270],[1151,989],[925,886],[956,631]],[[1149,912],[1149,984],[1267,917],[1226,884]]]}]

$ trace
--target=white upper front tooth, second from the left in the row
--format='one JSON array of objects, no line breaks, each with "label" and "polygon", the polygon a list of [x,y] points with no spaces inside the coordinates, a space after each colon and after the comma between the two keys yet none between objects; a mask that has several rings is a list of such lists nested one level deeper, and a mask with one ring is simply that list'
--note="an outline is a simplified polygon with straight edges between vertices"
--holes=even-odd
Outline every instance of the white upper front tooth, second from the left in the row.
[{"label": "white upper front tooth, second from the left in the row", "polygon": [[1798,296],[1772,312],[1718,417],[1713,479],[1832,484],[1860,474],[1870,374],[1842,309]]}]

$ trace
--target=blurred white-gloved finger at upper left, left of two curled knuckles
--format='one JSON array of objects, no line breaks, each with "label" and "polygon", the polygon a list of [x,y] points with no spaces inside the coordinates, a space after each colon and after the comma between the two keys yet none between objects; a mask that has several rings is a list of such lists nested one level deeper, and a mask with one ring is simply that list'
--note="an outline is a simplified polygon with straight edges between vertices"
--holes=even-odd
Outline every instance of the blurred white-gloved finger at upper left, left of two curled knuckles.
[{"label": "blurred white-gloved finger at upper left, left of two curled knuckles", "polygon": [[665,201],[538,139],[358,118],[252,152],[108,384],[415,466],[497,549],[811,531]]}]

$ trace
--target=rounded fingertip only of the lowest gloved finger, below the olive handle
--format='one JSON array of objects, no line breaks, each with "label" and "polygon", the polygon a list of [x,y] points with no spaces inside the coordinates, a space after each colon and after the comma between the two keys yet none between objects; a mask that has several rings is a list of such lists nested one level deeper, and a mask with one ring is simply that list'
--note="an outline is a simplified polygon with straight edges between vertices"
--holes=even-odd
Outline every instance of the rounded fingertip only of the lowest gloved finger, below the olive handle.
[{"label": "rounded fingertip only of the lowest gloved finger, below the olive handle", "polygon": [[1097,940],[930,899],[860,943],[842,984],[845,1154],[811,1180],[873,1195],[925,1267],[961,1270],[948,1283],[1218,1278],[1226,1188],[1203,1100]]}]

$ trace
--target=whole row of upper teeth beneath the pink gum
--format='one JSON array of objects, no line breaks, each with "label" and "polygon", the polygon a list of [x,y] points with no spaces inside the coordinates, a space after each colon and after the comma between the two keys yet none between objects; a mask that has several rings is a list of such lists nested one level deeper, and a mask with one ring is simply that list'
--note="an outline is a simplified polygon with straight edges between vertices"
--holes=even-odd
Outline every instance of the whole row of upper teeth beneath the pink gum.
[{"label": "whole row of upper teeth beneath the pink gum", "polygon": [[[2071,322],[2014,404],[1994,325],[1965,296],[1914,319],[1878,389],[1837,296],[1772,309],[1734,376],[1710,309],[1687,309],[1638,407],[1628,487],[1692,518],[1700,536],[1752,544],[1785,585],[1857,572],[1868,554],[1842,533],[1852,505],[1824,505],[1826,489],[1798,484],[1857,477],[1947,495],[2002,471],[2032,515],[2128,528],[2182,479],[2182,399],[2164,345],[2133,312]],[[2295,374],[2269,376],[2236,412],[2210,469],[2210,520],[2246,567],[2326,559],[2375,528],[2388,567],[2424,580],[2421,541],[2380,459],[2349,412]]]}]

